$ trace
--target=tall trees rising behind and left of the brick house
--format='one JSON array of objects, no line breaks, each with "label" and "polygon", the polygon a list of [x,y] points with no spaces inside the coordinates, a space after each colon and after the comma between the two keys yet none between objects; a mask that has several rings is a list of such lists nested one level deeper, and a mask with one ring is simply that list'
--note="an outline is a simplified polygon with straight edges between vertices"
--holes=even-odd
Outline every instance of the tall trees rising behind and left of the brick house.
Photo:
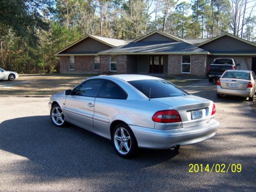
[{"label": "tall trees rising behind and left of the brick house", "polygon": [[53,54],[88,34],[137,39],[154,30],[180,38],[229,32],[256,40],[253,0],[0,0],[0,67],[53,73]]}]

